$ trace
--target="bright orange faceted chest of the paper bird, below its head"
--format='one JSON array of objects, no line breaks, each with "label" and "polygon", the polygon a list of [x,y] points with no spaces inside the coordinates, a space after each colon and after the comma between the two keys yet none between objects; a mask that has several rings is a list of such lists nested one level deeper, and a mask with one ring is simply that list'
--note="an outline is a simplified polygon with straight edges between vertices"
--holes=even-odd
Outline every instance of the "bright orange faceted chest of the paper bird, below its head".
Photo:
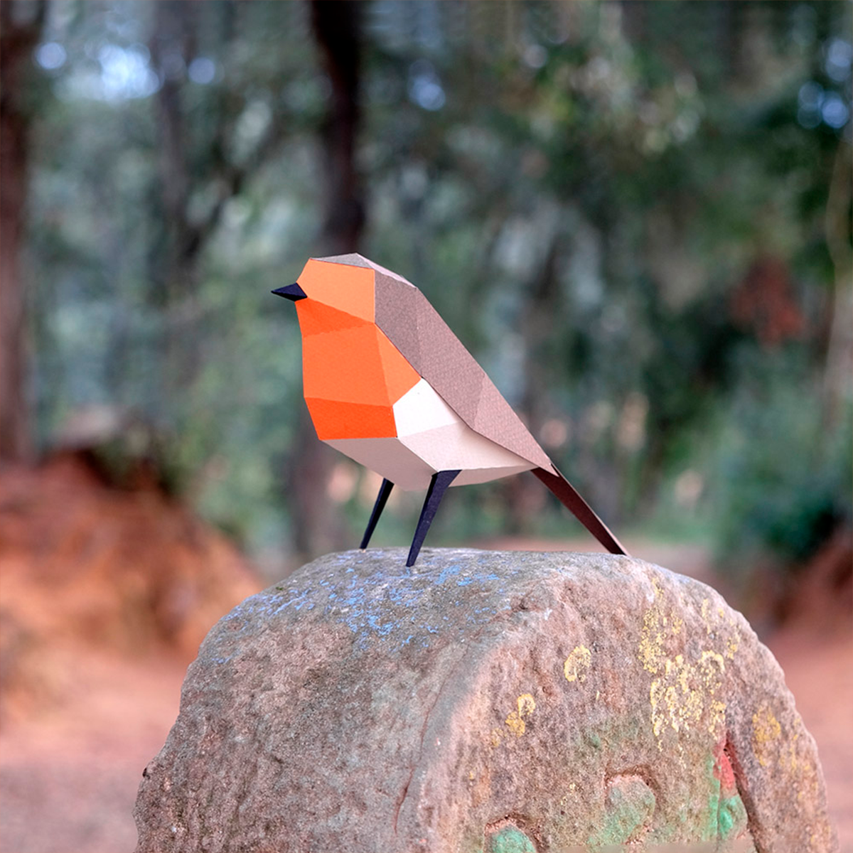
[{"label": "bright orange faceted chest of the paper bird, below its head", "polygon": [[302,376],[319,438],[396,436],[392,407],[421,379],[372,322],[303,333]]}]

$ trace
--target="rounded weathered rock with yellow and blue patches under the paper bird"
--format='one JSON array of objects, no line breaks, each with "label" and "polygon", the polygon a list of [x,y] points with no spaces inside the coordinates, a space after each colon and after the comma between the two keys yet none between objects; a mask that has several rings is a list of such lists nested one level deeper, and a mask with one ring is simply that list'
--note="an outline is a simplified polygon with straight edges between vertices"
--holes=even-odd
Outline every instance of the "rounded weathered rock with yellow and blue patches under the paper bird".
[{"label": "rounded weathered rock with yellow and blue patches under the paper bird", "polygon": [[782,672],[714,590],[604,554],[331,554],[202,644],[138,853],[837,850]]}]

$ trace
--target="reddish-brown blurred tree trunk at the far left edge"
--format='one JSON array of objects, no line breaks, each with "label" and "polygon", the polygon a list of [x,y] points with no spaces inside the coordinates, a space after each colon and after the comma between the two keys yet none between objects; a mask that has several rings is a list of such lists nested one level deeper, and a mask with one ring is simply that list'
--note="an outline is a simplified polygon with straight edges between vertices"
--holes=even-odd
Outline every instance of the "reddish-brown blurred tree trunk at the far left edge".
[{"label": "reddish-brown blurred tree trunk at the far left edge", "polygon": [[26,292],[21,265],[32,115],[23,96],[44,2],[0,4],[0,461],[32,461]]}]

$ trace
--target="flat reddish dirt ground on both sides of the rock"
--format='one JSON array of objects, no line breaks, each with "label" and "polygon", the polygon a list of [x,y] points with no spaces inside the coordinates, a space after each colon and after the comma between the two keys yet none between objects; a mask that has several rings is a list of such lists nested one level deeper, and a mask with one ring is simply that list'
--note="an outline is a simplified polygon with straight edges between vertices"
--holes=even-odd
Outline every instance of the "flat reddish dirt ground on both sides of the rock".
[{"label": "flat reddish dirt ground on both sides of the rock", "polygon": [[[660,546],[652,559],[706,579],[697,551]],[[801,620],[771,636],[768,644],[817,741],[841,850],[853,853],[850,624],[839,628],[820,619]],[[3,721],[0,850],[133,850],[136,787],[177,717],[189,661],[163,655],[134,660],[82,647],[68,647],[63,654],[68,675],[61,701],[38,715],[13,713]]]}]

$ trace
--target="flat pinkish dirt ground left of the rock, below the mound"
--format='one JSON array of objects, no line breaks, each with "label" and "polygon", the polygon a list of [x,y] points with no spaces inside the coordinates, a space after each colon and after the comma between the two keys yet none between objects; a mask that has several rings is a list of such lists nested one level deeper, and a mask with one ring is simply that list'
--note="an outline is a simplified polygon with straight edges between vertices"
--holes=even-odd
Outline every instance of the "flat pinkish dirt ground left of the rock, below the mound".
[{"label": "flat pinkish dirt ground left of the rock, below the mound", "polygon": [[68,655],[61,706],[0,733],[3,853],[122,853],[142,769],[177,717],[185,668],[174,659]]}]

